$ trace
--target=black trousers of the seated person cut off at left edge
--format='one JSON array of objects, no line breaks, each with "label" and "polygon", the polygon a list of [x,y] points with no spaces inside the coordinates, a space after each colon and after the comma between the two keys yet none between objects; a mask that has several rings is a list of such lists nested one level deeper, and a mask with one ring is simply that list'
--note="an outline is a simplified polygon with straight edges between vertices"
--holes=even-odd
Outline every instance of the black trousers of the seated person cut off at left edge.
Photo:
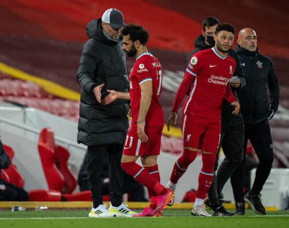
[{"label": "black trousers of the seated person cut off at left edge", "polygon": [[21,187],[0,179],[0,201],[28,201],[28,193]]}]

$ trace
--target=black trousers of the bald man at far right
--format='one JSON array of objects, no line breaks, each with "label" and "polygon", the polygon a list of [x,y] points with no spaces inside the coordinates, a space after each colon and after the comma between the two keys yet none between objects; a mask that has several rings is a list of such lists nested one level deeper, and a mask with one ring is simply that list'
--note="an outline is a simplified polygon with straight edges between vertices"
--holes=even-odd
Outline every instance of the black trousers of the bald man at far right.
[{"label": "black trousers of the bald man at far right", "polygon": [[245,124],[243,162],[235,169],[231,176],[233,194],[236,203],[244,202],[243,197],[243,165],[245,162],[245,149],[248,139],[259,159],[256,177],[251,188],[251,194],[260,194],[266,182],[273,163],[273,144],[268,120],[256,124]]}]

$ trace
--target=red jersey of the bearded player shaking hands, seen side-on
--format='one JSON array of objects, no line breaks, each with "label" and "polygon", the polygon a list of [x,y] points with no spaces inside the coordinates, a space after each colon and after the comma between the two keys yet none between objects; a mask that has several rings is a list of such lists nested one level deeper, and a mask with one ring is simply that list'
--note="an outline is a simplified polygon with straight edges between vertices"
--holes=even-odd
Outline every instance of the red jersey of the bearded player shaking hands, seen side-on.
[{"label": "red jersey of the bearded player shaking hands, seen side-on", "polygon": [[139,112],[139,102],[141,97],[141,83],[148,80],[153,81],[153,97],[146,116],[146,126],[163,127],[164,114],[159,97],[162,92],[162,67],[159,60],[151,53],[143,53],[139,55],[131,69],[129,80],[129,96],[131,100],[132,126],[137,121]]}]

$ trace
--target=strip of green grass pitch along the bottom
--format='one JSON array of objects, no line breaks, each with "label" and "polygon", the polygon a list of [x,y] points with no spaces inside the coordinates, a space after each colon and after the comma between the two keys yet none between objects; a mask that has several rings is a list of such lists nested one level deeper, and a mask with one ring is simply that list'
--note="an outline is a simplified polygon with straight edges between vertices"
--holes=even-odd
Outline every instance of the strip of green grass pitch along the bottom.
[{"label": "strip of green grass pitch along the bottom", "polygon": [[[232,211],[232,210],[231,210]],[[246,210],[244,216],[234,217],[192,217],[190,210],[164,210],[163,217],[152,218],[88,218],[89,210],[81,211],[0,211],[2,228],[282,228],[289,227],[289,211],[270,211],[267,215],[257,215]],[[209,211],[211,212],[211,211]]]}]

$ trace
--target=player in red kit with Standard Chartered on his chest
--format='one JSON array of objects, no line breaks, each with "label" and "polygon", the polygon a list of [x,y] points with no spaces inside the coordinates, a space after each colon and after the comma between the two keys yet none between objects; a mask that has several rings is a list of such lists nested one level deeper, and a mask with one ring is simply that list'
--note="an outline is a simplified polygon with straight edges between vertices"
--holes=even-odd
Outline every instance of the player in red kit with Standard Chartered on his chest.
[{"label": "player in red kit with Standard Chartered on his chest", "polygon": [[211,216],[202,205],[214,175],[215,154],[221,134],[223,98],[234,106],[233,114],[237,114],[240,109],[229,85],[236,68],[235,59],[228,55],[234,34],[235,28],[232,25],[221,24],[215,31],[215,46],[192,55],[184,79],[176,92],[167,123],[168,130],[171,124],[176,123],[177,110],[192,85],[182,109],[184,153],[174,164],[167,186],[175,189],[178,179],[186,172],[200,150],[203,166],[199,174],[195,204],[191,211],[195,216]]}]

